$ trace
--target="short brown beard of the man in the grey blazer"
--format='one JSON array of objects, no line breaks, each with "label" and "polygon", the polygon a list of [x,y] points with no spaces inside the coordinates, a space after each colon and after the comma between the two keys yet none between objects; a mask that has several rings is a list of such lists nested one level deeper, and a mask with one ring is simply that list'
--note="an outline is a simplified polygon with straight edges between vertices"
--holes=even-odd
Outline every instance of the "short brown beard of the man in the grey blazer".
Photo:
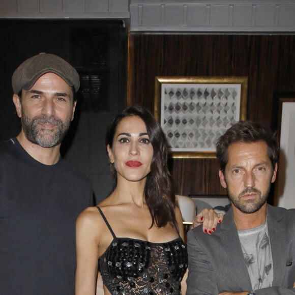
[{"label": "short brown beard of the man in the grey blazer", "polygon": [[[235,207],[237,207],[240,211],[243,213],[254,213],[258,211],[262,205],[267,201],[269,193],[271,189],[271,183],[263,194],[261,191],[255,189],[255,188],[246,188],[243,192],[239,194],[238,197],[234,197],[231,192],[228,190],[228,197],[230,201],[234,204]],[[259,195],[259,199],[248,199],[248,200],[242,200],[242,197],[245,194],[249,193],[256,193]]]}]

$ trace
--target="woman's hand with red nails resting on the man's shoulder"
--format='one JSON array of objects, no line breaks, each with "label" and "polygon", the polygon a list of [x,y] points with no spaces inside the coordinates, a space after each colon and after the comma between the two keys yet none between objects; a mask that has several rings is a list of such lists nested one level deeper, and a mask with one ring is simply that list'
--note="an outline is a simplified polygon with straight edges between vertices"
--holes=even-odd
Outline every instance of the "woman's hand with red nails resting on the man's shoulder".
[{"label": "woman's hand with red nails resting on the man's shoulder", "polygon": [[218,223],[223,220],[222,213],[216,213],[213,209],[203,209],[193,220],[193,227],[202,224],[203,232],[212,234]]}]

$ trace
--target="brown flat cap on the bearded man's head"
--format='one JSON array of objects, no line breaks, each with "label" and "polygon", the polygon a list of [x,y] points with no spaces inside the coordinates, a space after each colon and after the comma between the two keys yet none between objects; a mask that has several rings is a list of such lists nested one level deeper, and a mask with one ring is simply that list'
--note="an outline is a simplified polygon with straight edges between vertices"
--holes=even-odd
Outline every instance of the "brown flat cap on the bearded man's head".
[{"label": "brown flat cap on the bearded man's head", "polygon": [[45,73],[62,77],[75,92],[79,90],[80,78],[77,71],[62,57],[50,53],[39,53],[24,61],[12,75],[12,90],[18,94],[22,89],[29,90]]}]

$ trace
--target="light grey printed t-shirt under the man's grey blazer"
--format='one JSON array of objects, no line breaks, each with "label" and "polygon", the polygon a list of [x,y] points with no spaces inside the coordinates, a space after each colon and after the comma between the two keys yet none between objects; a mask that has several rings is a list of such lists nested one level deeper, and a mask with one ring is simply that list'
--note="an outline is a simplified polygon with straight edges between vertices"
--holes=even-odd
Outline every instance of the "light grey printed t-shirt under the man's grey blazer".
[{"label": "light grey printed t-shirt under the man's grey blazer", "polygon": [[253,290],[271,287],[274,270],[267,219],[238,233]]}]

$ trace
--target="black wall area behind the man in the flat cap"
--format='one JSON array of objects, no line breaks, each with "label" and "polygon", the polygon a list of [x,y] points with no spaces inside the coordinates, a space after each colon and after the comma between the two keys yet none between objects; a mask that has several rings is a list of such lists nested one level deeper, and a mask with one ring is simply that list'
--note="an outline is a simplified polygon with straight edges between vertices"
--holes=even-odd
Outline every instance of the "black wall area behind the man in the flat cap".
[{"label": "black wall area behind the man in the flat cap", "polygon": [[20,130],[12,103],[11,77],[26,58],[47,52],[80,74],[75,119],[62,155],[88,175],[97,201],[111,190],[104,136],[112,117],[126,106],[127,28],[122,20],[1,20],[0,140]]}]

